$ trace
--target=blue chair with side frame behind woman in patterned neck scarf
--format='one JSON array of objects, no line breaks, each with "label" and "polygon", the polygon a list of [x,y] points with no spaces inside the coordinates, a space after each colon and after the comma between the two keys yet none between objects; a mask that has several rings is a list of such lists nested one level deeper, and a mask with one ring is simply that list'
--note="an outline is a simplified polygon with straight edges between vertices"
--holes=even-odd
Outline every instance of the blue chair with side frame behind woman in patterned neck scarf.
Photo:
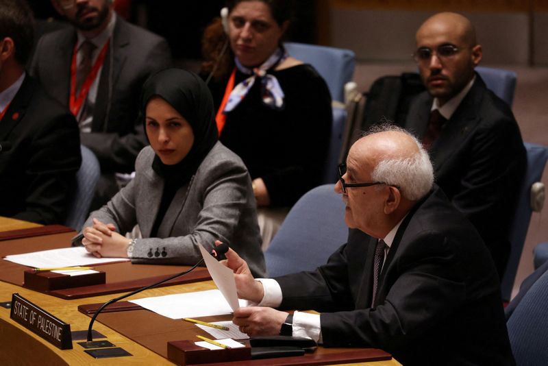
[{"label": "blue chair with side frame behind woman in patterned neck scarf", "polygon": [[323,182],[326,184],[336,182],[336,165],[338,164],[347,120],[347,111],[343,104],[345,101],[345,84],[351,81],[354,73],[354,53],[349,49],[293,42],[287,42],[284,46],[291,56],[314,66],[329,87],[329,92],[334,101],[333,125]]}]

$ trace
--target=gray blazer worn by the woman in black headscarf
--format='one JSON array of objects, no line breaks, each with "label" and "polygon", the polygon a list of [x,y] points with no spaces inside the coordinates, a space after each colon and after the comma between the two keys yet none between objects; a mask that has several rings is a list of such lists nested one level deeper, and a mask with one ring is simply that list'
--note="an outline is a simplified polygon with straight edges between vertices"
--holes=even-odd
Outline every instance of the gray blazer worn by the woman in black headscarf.
[{"label": "gray blazer worn by the woman in black headscarf", "polygon": [[136,240],[133,263],[194,265],[201,259],[197,243],[209,251],[220,240],[247,260],[253,276],[266,276],[251,178],[242,160],[217,142],[190,182],[175,193],[158,238],[150,238],[164,188],[152,169],[153,158],[151,147],[142,149],[134,180],[92,212],[84,227],[97,218],[124,233],[138,223],[144,239]]}]

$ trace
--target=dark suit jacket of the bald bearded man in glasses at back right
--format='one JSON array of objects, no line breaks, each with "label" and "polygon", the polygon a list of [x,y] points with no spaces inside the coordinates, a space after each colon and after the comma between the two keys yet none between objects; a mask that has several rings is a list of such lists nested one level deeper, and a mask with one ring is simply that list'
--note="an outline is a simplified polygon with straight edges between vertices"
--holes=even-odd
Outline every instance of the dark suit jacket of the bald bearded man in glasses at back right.
[{"label": "dark suit jacket of the bald bearded man in glasses at back right", "polygon": [[[432,101],[427,92],[416,97],[407,130],[424,136]],[[527,160],[512,111],[479,75],[429,154],[436,183],[482,236],[501,278],[510,255],[510,223]]]}]

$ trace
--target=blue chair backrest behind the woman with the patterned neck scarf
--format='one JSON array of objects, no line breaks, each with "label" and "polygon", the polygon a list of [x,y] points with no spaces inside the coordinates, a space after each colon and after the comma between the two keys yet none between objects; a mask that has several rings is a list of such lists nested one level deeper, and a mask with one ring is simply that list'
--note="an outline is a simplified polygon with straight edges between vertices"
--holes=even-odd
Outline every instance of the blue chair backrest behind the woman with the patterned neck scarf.
[{"label": "blue chair backrest behind the woman with the patterned neck scarf", "polygon": [[286,42],[288,53],[314,66],[323,77],[334,101],[344,102],[345,84],[352,79],[355,55],[349,49]]}]

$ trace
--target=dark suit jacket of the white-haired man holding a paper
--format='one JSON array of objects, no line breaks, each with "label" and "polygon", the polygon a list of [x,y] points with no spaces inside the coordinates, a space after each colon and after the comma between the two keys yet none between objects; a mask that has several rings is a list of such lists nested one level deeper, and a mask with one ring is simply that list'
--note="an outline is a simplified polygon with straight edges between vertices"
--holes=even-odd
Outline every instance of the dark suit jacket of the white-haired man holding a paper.
[{"label": "dark suit jacket of the white-haired man holding a paper", "polygon": [[512,365],[493,262],[439,188],[401,223],[371,308],[376,243],[350,230],[326,265],[276,278],[281,307],[320,311],[328,347],[378,347],[403,365]]}]

